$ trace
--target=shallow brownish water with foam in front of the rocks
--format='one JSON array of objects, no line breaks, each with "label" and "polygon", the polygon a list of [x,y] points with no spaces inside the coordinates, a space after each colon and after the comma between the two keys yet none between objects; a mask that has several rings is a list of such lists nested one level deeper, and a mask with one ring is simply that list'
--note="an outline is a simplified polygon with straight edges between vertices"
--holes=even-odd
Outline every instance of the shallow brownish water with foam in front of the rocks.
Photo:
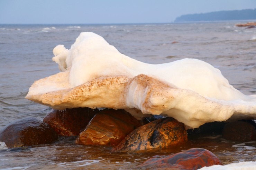
[{"label": "shallow brownish water with foam in front of the rocks", "polygon": [[110,147],[82,146],[66,139],[54,144],[5,149],[0,151],[1,168],[28,169],[145,169],[137,166],[155,155],[168,155],[190,148],[204,148],[213,152],[223,164],[255,161],[256,141],[227,141],[221,136],[189,140],[167,149],[111,152]]}]

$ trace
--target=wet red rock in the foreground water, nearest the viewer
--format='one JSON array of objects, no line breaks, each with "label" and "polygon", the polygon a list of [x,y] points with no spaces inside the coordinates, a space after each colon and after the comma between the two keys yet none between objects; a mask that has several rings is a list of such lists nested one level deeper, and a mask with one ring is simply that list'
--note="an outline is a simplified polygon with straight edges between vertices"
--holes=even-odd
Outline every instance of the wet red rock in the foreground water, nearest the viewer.
[{"label": "wet red rock in the foreground water, nearest the viewer", "polygon": [[167,156],[154,156],[139,167],[154,167],[154,169],[161,170],[196,170],[213,165],[222,165],[222,163],[212,152],[202,148],[191,148]]}]

